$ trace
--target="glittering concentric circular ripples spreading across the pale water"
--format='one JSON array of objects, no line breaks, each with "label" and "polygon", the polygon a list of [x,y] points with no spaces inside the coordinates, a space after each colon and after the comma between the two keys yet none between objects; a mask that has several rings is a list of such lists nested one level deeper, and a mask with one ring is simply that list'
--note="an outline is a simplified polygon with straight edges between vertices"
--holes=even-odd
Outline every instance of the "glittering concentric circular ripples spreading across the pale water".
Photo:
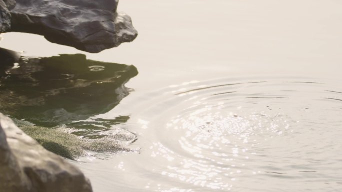
[{"label": "glittering concentric circular ripples spreading across the pale water", "polygon": [[341,91],[276,78],[159,90],[131,116],[145,162],[135,172],[160,192],[342,190]]}]

